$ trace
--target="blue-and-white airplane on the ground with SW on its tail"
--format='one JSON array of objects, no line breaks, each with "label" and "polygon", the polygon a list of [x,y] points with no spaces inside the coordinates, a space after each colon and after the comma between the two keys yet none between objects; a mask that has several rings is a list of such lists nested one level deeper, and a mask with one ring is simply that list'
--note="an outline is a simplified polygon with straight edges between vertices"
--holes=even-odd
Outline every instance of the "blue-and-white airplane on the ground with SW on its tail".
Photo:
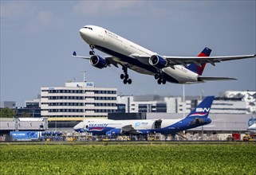
[{"label": "blue-and-white airplane on the ground with SW on its tail", "polygon": [[84,119],[74,126],[77,132],[90,132],[94,135],[120,134],[176,134],[182,130],[203,126],[211,123],[208,115],[215,96],[207,96],[203,102],[184,119],[151,119],[151,120],[112,120]]}]

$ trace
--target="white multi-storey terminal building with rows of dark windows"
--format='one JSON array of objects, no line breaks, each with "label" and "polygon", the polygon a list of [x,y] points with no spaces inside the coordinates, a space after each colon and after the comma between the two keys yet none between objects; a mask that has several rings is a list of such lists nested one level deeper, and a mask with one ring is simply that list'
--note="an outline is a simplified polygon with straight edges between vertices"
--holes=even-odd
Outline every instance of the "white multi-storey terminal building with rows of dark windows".
[{"label": "white multi-storey terminal building with rows of dark windows", "polygon": [[107,117],[116,112],[116,88],[96,88],[93,82],[68,82],[41,88],[41,117]]}]

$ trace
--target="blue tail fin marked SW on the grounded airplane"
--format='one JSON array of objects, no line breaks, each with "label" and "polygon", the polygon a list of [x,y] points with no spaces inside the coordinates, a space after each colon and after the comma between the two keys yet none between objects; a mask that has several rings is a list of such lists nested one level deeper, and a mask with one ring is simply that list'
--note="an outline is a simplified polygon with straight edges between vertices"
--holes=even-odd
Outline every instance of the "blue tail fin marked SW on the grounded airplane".
[{"label": "blue tail fin marked SW on the grounded airplane", "polygon": [[210,110],[211,110],[211,104],[213,103],[213,100],[215,99],[215,96],[207,96],[187,117],[189,118],[207,118]]}]

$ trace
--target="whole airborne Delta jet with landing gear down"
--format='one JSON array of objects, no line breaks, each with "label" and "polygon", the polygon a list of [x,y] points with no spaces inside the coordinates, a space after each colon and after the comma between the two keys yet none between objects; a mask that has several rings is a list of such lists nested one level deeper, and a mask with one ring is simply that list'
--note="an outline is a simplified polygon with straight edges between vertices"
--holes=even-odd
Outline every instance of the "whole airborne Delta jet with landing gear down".
[{"label": "whole airborne Delta jet with landing gear down", "polygon": [[[80,35],[92,49],[89,52],[91,56],[77,56],[76,52],[73,52],[73,56],[89,60],[90,64],[100,69],[111,64],[118,68],[119,64],[124,71],[120,75],[124,84],[132,84],[132,79],[128,76],[128,68],[155,76],[158,84],[166,84],[166,82],[198,84],[207,80],[236,80],[228,77],[204,77],[203,68],[207,63],[215,66],[215,63],[221,61],[255,57],[255,55],[210,56],[211,49],[208,48],[203,49],[199,56],[161,56],[95,25],[85,25],[80,29]],[[96,55],[94,49],[109,56]]]}]

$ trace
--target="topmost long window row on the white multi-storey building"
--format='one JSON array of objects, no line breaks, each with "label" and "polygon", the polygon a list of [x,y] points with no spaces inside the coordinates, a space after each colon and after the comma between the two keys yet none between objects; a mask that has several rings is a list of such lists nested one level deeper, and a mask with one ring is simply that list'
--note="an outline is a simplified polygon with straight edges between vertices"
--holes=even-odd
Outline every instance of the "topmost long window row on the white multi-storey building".
[{"label": "topmost long window row on the white multi-storey building", "polygon": [[84,94],[86,92],[94,92],[94,94],[116,94],[116,91],[96,91],[96,90],[42,90],[42,91],[47,91],[50,94]]}]

